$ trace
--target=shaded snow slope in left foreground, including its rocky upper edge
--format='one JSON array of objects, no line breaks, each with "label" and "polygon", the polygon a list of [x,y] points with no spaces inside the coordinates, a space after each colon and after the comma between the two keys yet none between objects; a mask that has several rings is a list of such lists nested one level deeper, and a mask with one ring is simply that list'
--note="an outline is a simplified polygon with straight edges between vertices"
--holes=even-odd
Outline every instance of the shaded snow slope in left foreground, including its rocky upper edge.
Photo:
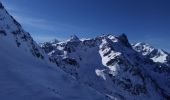
[{"label": "shaded snow slope in left foreground, including its rocky upper edge", "polygon": [[56,65],[0,3],[0,100],[107,100]]}]

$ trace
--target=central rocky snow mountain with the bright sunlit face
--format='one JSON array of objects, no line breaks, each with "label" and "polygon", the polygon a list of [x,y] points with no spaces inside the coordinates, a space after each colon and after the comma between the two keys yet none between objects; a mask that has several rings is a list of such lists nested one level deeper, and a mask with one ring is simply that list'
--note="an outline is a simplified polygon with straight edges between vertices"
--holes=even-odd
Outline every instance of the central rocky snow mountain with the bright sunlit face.
[{"label": "central rocky snow mountain with the bright sunlit face", "polygon": [[46,42],[41,48],[66,73],[109,98],[163,100],[170,97],[170,72],[136,52],[125,34],[103,35],[65,42]]}]

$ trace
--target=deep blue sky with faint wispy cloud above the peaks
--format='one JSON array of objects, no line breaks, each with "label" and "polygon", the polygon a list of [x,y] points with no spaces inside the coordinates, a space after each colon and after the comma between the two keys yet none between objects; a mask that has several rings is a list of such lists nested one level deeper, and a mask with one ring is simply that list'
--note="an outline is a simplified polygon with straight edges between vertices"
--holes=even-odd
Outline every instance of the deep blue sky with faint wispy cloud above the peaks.
[{"label": "deep blue sky with faint wispy cloud above the peaks", "polygon": [[125,33],[170,51],[170,0],[1,0],[38,41]]}]

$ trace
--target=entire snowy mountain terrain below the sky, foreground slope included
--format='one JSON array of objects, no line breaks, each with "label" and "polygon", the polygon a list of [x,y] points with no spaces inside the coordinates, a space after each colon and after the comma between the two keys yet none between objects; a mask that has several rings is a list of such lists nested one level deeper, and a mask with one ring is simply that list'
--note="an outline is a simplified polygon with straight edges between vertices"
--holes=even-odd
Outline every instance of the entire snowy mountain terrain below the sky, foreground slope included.
[{"label": "entire snowy mountain terrain below the sky, foreground slope included", "polygon": [[170,54],[125,34],[37,44],[0,3],[1,100],[168,100]]}]

